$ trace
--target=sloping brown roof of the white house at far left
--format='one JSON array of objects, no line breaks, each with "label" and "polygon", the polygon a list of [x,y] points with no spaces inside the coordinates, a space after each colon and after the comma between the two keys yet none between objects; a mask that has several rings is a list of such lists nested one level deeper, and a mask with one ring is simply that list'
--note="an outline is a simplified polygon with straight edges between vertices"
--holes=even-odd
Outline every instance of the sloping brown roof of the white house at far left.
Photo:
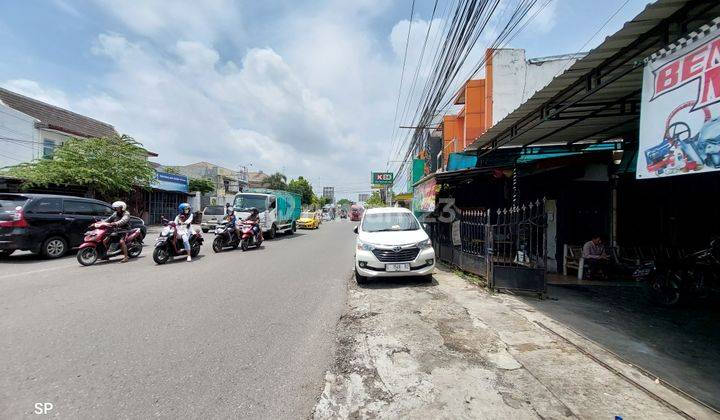
[{"label": "sloping brown roof of the white house at far left", "polygon": [[62,131],[81,137],[116,136],[115,128],[102,121],[59,108],[36,99],[0,88],[0,101],[40,121],[40,128]]}]

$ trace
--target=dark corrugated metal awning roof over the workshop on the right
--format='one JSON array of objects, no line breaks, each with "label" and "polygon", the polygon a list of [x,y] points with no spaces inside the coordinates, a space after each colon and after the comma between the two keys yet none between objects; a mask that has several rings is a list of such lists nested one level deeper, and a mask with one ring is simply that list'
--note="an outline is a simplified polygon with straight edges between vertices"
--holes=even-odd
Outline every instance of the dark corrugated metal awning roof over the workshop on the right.
[{"label": "dark corrugated metal awning roof over the workshop on the right", "polygon": [[[659,0],[648,5],[466,150],[482,149],[482,154],[503,146],[598,142],[636,135],[642,60],[719,15],[717,1]],[[592,118],[579,117],[593,112]]]}]

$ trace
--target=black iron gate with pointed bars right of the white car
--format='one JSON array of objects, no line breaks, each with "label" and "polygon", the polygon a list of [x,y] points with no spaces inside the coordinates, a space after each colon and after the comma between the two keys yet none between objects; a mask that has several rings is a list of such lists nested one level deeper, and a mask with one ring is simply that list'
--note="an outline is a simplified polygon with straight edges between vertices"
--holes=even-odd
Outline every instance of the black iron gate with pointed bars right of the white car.
[{"label": "black iron gate with pointed bars right of the white car", "polygon": [[[546,292],[545,201],[504,209],[459,209],[456,220],[435,222],[430,233],[439,260],[487,279],[491,289]],[[457,223],[459,242],[453,242]]]}]

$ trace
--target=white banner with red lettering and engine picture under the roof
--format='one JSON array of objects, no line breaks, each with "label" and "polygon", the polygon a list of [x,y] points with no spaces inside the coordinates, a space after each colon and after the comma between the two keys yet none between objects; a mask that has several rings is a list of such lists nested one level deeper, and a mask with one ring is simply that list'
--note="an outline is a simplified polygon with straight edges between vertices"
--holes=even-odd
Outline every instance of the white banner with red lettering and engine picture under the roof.
[{"label": "white banner with red lettering and engine picture under the roof", "polygon": [[720,30],[678,45],[645,65],[638,179],[720,170]]}]

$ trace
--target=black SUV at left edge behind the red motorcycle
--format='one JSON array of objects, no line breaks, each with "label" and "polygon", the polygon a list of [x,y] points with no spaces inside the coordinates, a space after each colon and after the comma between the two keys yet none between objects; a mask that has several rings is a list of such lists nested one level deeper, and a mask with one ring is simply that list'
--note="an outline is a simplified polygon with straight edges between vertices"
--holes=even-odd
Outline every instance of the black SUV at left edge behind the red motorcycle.
[{"label": "black SUV at left edge behind the red motorcycle", "polygon": [[[90,224],[112,213],[110,204],[91,198],[0,193],[0,257],[19,249],[59,258],[82,244]],[[145,237],[142,219],[131,217],[130,226]]]}]

